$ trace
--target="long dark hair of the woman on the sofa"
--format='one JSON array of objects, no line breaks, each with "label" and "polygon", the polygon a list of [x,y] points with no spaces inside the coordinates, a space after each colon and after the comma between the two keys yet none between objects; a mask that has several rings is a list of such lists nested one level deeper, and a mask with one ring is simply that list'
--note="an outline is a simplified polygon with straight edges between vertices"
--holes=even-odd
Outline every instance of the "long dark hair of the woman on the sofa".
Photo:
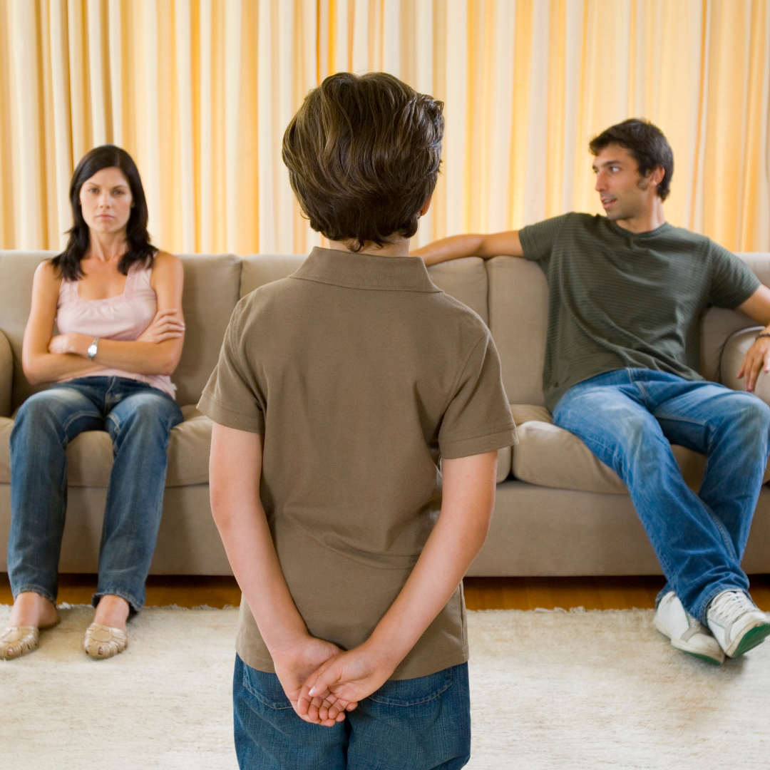
[{"label": "long dark hair of the woman on the sofa", "polygon": [[90,243],[89,226],[83,219],[80,207],[80,188],[96,172],[113,166],[120,169],[128,180],[132,197],[131,214],[126,224],[126,242],[129,249],[120,258],[118,269],[124,276],[127,276],[129,268],[134,264],[149,266],[158,251],[149,241],[147,200],[136,163],[125,149],[115,145],[94,147],[80,159],[78,167],[72,174],[72,182],[69,185],[69,203],[72,205],[74,224],[69,230],[69,241],[66,248],[51,260],[52,265],[62,271],[62,278],[65,280],[76,281],[82,278],[83,271],[80,267],[80,260],[85,256]]}]

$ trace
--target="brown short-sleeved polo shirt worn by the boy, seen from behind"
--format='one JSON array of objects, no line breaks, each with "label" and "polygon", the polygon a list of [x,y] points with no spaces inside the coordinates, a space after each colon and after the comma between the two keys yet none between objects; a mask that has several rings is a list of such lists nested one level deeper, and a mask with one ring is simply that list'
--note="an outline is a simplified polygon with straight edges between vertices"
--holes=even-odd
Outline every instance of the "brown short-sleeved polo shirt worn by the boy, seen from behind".
[{"label": "brown short-sleeved polo shirt worn by the boy, seen from behind", "polygon": [[[245,296],[199,409],[264,435],[261,497],[313,636],[365,641],[407,581],[441,506],[441,457],[516,443],[480,318],[421,259],[313,249]],[[238,654],[273,661],[246,601]],[[393,673],[467,660],[461,588]]]}]

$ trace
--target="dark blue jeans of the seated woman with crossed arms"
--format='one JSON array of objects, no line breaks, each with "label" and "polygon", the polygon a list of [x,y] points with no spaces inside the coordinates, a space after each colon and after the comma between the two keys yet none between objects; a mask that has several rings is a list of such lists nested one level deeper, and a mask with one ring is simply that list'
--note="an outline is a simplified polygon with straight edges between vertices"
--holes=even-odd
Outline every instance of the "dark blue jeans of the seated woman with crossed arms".
[{"label": "dark blue jeans of the seated woman with crossed arms", "polygon": [[106,430],[115,462],[93,603],[113,594],[139,611],[160,525],[169,431],[182,419],[166,393],[127,377],[69,380],[22,404],[10,439],[8,577],[14,598],[35,591],[56,601],[67,507],[65,448],[84,430]]}]

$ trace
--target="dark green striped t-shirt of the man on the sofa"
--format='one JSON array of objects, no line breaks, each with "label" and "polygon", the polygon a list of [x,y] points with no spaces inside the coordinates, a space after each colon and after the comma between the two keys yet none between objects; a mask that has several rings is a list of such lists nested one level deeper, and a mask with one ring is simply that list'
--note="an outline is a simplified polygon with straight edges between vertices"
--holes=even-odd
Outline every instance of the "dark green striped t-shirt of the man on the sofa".
[{"label": "dark green striped t-shirt of the man on the sofa", "polygon": [[703,311],[734,308],[759,286],[735,254],[668,223],[631,233],[606,216],[570,213],[519,237],[550,290],[543,368],[550,410],[573,385],[627,367],[702,380]]}]

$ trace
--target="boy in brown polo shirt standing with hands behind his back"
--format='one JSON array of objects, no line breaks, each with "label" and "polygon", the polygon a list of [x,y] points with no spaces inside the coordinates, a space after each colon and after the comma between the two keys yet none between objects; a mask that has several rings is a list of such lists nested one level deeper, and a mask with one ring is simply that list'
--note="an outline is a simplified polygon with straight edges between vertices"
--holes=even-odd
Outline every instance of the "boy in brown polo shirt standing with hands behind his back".
[{"label": "boy in brown polo shirt standing with hands behind his back", "polygon": [[487,327],[408,256],[442,109],[383,73],[310,92],[283,160],[330,248],[240,301],[199,405],[243,590],[242,768],[470,756],[460,581],[516,434]]}]

